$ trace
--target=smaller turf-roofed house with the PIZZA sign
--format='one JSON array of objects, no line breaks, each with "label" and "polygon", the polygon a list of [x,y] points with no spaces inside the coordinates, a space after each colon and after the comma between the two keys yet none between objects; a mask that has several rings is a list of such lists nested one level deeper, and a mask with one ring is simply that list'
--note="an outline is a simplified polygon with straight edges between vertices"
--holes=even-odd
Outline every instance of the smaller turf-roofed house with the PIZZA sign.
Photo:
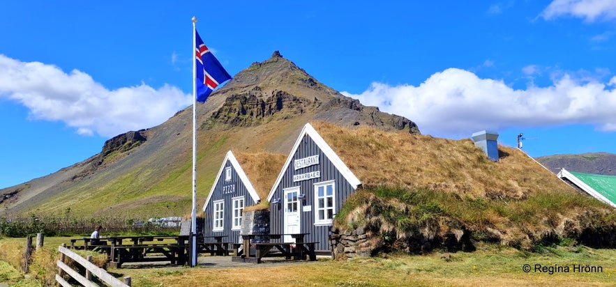
[{"label": "smaller turf-roofed house with the PIZZA sign", "polygon": [[264,199],[284,159],[280,154],[228,151],[203,205],[204,236],[241,242],[244,208]]}]

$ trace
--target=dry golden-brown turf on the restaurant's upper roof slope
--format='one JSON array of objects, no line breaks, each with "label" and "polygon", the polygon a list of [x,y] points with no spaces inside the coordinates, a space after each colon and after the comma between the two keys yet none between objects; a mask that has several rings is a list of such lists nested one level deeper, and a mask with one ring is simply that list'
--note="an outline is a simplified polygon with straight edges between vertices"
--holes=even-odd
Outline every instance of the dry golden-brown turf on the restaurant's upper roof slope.
[{"label": "dry golden-brown turf on the restaurant's upper roof slope", "polygon": [[488,160],[469,139],[440,139],[370,127],[313,125],[364,187],[424,187],[471,197],[525,199],[531,192],[573,192],[520,150],[499,146]]}]

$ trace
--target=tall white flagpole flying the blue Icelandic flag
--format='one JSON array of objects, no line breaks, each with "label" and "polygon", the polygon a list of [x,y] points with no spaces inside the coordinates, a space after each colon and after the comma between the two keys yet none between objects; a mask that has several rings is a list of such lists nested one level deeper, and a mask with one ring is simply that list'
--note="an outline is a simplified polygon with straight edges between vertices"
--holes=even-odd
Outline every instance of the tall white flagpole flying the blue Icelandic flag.
[{"label": "tall white flagpole flying the blue Icelandic flag", "polygon": [[197,266],[197,18],[193,16],[193,222],[190,224],[190,267]]}]

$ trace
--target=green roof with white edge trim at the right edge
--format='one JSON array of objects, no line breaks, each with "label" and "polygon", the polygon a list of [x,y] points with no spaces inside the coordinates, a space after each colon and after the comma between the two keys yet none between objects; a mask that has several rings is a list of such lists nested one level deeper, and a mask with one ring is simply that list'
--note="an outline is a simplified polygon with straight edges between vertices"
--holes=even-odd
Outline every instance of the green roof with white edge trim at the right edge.
[{"label": "green roof with white edge trim at the right edge", "polygon": [[599,201],[616,208],[616,176],[561,169],[558,177],[582,189],[595,199],[599,199]]}]

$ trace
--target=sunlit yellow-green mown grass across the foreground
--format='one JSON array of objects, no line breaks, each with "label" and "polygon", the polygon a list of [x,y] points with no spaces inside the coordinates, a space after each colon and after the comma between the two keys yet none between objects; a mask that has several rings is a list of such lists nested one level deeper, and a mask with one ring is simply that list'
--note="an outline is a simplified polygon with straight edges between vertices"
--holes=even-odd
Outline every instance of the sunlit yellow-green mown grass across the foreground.
[{"label": "sunlit yellow-green mown grass across the foreground", "polygon": [[[54,274],[54,252],[67,238],[46,238],[45,255],[35,256],[35,274],[17,271],[23,238],[0,240],[0,281],[9,286],[45,286]],[[21,249],[20,249],[21,248]],[[44,250],[45,250],[44,249]],[[486,245],[472,253],[443,256],[389,254],[348,261],[247,267],[126,267],[110,269],[116,277],[130,276],[133,286],[616,286],[616,249],[545,247],[541,254]],[[444,257],[444,258],[443,258]],[[230,260],[230,258],[229,258]],[[47,262],[45,262],[47,261]],[[9,263],[9,264],[7,264]],[[529,272],[523,267],[528,264]],[[573,270],[595,267],[594,272]],[[38,266],[38,267],[37,267]],[[536,269],[539,267],[539,269]],[[568,272],[565,267],[569,268]],[[601,267],[599,270],[598,267]],[[550,274],[550,269],[553,274]],[[589,268],[585,268],[589,269]],[[575,272],[574,272],[575,271]],[[41,274],[43,273],[43,274]],[[38,279],[39,281],[35,280]],[[50,282],[47,281],[47,284]]]}]

